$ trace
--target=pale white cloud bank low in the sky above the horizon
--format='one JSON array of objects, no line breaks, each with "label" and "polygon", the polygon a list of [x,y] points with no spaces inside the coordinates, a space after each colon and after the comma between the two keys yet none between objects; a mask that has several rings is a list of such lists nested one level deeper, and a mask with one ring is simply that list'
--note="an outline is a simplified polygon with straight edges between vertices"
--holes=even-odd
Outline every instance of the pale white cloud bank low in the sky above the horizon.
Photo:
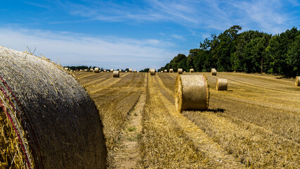
[{"label": "pale white cloud bank low in the sky above the horizon", "polygon": [[175,51],[168,42],[157,39],[125,39],[45,30],[0,28],[1,46],[19,51],[37,47],[43,54],[62,65],[98,65],[105,68],[159,68]]}]

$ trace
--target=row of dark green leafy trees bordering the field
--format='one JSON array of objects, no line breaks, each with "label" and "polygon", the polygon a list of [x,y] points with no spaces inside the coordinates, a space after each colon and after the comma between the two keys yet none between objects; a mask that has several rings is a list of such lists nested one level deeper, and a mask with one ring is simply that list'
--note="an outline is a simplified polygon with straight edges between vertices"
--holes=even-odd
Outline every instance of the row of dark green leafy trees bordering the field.
[{"label": "row of dark green leafy trees bordering the field", "polygon": [[211,68],[226,72],[273,73],[294,77],[300,75],[300,30],[293,27],[281,34],[248,30],[233,25],[211,38],[200,42],[199,49],[189,55],[178,54],[158,71],[182,68],[207,72]]}]

